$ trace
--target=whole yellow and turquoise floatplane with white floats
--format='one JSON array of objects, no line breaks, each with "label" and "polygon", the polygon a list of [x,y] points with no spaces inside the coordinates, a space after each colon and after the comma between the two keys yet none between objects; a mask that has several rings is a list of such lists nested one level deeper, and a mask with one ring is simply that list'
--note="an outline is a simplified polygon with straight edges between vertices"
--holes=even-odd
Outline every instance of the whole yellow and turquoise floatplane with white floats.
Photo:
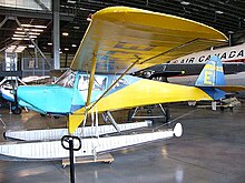
[{"label": "whole yellow and turquoise floatplane with white floats", "polygon": [[[19,87],[18,103],[43,114],[68,115],[68,131],[72,134],[87,115],[95,111],[110,115],[109,111],[140,105],[219,100],[224,98],[225,91],[244,88],[225,85],[218,57],[212,57],[206,63],[195,87],[153,81],[128,73],[226,41],[222,32],[192,20],[127,7],[106,8],[92,16],[70,69],[55,84]],[[119,131],[114,120],[111,123]],[[96,152],[166,139],[174,134],[179,136],[182,129],[179,124],[177,126],[168,134],[151,132],[82,139],[82,150],[77,155],[94,155]],[[0,153],[33,159],[67,156],[68,153],[60,149],[60,141],[56,144],[57,148],[53,142],[41,142],[38,150],[37,142],[29,143],[28,148],[23,144],[4,144],[0,145]],[[31,148],[37,153],[30,153]],[[20,155],[18,152],[26,154]],[[40,152],[45,155],[40,155]]]}]

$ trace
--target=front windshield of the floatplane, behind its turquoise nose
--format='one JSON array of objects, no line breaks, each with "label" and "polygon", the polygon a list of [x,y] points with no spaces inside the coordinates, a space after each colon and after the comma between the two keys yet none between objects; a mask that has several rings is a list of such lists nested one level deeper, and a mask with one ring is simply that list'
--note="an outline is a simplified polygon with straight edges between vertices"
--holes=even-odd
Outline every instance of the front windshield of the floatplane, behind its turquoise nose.
[{"label": "front windshield of the floatplane, behind its turquoise nose", "polygon": [[74,88],[75,77],[76,72],[68,70],[57,80],[56,84],[65,88]]}]

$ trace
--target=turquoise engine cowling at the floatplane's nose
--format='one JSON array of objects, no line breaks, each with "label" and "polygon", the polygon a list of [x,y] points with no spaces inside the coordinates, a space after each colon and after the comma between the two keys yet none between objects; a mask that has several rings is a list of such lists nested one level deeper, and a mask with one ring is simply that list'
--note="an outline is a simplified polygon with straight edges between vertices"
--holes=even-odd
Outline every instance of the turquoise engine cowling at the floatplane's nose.
[{"label": "turquoise engine cowling at the floatplane's nose", "polygon": [[66,114],[70,112],[72,89],[59,85],[24,85],[17,90],[18,102],[30,110],[50,113]]}]

